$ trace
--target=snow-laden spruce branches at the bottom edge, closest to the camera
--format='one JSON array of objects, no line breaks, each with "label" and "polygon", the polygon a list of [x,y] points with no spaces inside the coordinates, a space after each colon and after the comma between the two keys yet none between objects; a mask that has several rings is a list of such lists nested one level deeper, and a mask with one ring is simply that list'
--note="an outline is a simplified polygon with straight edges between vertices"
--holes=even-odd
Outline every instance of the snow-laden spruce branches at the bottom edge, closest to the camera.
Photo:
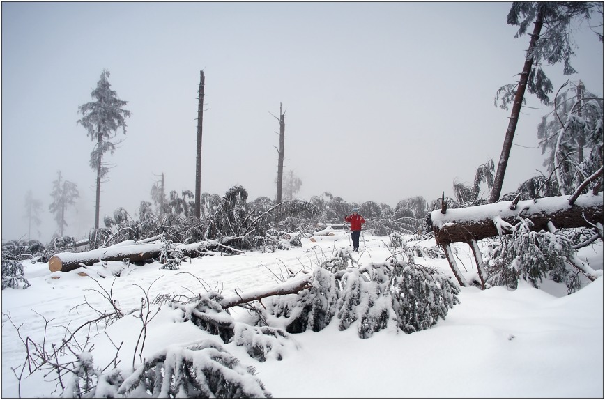
[{"label": "snow-laden spruce branches at the bottom edge, closest to the camera", "polygon": [[169,346],[125,378],[125,397],[271,397],[252,367],[243,367],[215,341],[187,347]]}]

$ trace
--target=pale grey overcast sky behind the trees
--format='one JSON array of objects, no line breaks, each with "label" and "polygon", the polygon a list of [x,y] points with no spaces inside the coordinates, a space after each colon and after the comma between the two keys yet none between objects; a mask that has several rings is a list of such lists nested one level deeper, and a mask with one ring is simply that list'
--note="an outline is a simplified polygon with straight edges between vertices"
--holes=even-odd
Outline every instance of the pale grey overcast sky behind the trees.
[{"label": "pale grey overcast sky behind the trees", "polygon": [[[516,80],[529,41],[507,26],[510,5],[3,2],[2,239],[27,238],[28,190],[43,202],[32,238],[50,239],[59,170],[81,196],[66,235],[93,227],[93,143],[76,121],[104,68],[132,116],[106,158],[101,218],[118,207],[135,217],[162,172],[167,192],[194,192],[202,69],[202,192],[239,184],[249,201],[275,199],[281,102],[298,197],[395,206],[452,196],[454,181],[470,184],[500,157],[510,111],[493,98]],[[570,78],[602,95],[602,43],[586,25],[574,37]],[[567,80],[562,66],[546,72],[556,89]],[[503,194],[545,171],[536,125],[548,111],[521,116]]]}]

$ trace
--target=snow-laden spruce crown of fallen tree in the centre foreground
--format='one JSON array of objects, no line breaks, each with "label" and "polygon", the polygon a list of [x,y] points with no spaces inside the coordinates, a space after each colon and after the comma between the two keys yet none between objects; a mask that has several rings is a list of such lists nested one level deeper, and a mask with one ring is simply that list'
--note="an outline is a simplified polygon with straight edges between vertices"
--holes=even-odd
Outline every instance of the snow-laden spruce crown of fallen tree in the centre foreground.
[{"label": "snow-laden spruce crown of fallen tree in the centre foreground", "polygon": [[337,316],[340,330],[357,322],[359,337],[367,338],[383,329],[411,333],[430,328],[459,302],[457,286],[431,268],[395,259],[346,268],[344,260],[338,253],[314,268],[312,286],[298,295],[272,298],[265,320],[298,333],[321,330]]}]

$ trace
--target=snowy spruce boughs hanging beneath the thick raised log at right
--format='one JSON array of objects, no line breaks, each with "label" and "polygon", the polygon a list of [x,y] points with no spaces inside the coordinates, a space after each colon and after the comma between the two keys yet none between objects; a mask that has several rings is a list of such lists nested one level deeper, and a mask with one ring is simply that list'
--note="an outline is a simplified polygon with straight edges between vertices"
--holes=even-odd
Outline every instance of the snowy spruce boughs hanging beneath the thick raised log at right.
[{"label": "snowy spruce boughs hanging beneath the thick raised log at right", "polygon": [[551,277],[570,289],[577,286],[576,274],[565,268],[565,259],[575,252],[572,241],[558,233],[530,231],[532,224],[521,220],[494,247],[487,260],[487,282],[516,289],[522,278],[537,288],[544,278]]}]

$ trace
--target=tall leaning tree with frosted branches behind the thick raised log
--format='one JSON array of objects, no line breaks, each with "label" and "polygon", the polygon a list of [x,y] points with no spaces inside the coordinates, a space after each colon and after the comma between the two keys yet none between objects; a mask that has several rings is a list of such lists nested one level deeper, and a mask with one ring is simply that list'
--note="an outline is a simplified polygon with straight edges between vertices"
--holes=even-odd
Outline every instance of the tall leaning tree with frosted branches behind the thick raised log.
[{"label": "tall leaning tree with frosted branches behind the thick raised log", "polygon": [[495,203],[500,199],[516,124],[519,121],[521,107],[525,102],[526,89],[529,93],[535,94],[544,105],[550,104],[549,93],[553,91],[553,84],[542,68],[562,62],[565,75],[572,75],[576,72],[569,63],[574,55],[575,47],[570,35],[573,28],[572,22],[590,19],[592,9],[596,5],[597,3],[581,1],[515,2],[512,4],[507,24],[519,26],[515,38],[523,36],[532,22],[534,29],[530,35],[530,43],[519,82],[502,86],[496,93],[494,103],[498,105],[498,100],[500,100],[500,108],[503,109],[508,109],[512,103],[512,109],[489,203]]}]

